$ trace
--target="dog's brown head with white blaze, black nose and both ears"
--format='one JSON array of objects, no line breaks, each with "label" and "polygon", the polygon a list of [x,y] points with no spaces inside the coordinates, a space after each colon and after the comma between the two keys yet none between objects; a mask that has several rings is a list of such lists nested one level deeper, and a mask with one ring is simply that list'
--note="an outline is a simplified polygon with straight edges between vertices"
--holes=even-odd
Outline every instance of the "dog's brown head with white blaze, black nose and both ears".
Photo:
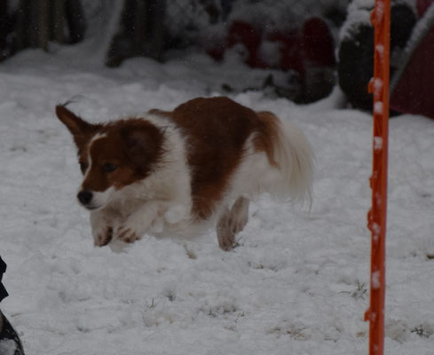
[{"label": "dog's brown head with white blaze, black nose and both ears", "polygon": [[77,198],[86,209],[104,208],[117,191],[149,176],[161,161],[163,132],[151,122],[91,124],[66,106],[56,106],[56,114],[78,149],[83,183]]}]

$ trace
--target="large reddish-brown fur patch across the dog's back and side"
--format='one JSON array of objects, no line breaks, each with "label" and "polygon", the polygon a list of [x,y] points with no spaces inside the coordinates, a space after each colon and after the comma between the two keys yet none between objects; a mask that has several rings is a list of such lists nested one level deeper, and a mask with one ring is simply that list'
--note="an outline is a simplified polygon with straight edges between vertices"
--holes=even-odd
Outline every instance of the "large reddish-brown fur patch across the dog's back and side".
[{"label": "large reddish-brown fur patch across the dog's back and side", "polygon": [[[155,114],[168,114],[154,111]],[[193,212],[208,218],[240,165],[247,139],[257,132],[255,146],[272,158],[272,119],[259,118],[231,99],[193,99],[170,113],[187,138],[192,170]]]}]

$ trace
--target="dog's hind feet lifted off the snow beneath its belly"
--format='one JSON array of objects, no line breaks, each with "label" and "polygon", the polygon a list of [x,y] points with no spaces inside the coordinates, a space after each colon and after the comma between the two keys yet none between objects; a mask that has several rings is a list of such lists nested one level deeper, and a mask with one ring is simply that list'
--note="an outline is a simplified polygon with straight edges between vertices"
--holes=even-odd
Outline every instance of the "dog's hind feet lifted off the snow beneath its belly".
[{"label": "dog's hind feet lifted off the snow beneath its belly", "polygon": [[233,248],[235,235],[240,233],[249,220],[249,199],[239,197],[232,209],[227,207],[217,222],[218,245],[225,251]]}]

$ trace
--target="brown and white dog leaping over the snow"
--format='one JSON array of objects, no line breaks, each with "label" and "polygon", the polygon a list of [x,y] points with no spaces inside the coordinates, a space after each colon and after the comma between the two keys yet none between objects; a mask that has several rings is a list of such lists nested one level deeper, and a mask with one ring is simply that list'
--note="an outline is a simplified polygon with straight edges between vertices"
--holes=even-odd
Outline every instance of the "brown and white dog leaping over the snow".
[{"label": "brown and white dog leaping over the snow", "polygon": [[215,225],[227,251],[260,193],[312,203],[312,147],[271,112],[218,97],[107,123],[86,122],[67,104],[56,114],[78,150],[77,199],[91,211],[96,246]]}]

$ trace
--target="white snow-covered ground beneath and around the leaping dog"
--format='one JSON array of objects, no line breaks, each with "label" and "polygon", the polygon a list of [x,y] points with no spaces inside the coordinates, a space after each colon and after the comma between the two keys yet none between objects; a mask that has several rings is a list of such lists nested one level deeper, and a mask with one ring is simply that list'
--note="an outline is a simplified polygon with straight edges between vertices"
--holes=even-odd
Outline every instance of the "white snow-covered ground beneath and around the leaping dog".
[{"label": "white snow-covered ground beneath and around the leaping dog", "polygon": [[[186,55],[118,69],[91,51],[25,51],[0,65],[0,255],[11,296],[2,311],[28,355],[365,355],[370,115],[339,91],[309,106],[234,94],[295,121],[317,157],[310,213],[264,196],[238,248],[215,233],[145,236],[123,253],[92,246],[75,201],[75,146],[54,115],[92,122],[171,109],[246,83],[247,72]],[[249,83],[246,84],[249,86]],[[434,354],[434,122],[391,120],[385,353]]]}]

